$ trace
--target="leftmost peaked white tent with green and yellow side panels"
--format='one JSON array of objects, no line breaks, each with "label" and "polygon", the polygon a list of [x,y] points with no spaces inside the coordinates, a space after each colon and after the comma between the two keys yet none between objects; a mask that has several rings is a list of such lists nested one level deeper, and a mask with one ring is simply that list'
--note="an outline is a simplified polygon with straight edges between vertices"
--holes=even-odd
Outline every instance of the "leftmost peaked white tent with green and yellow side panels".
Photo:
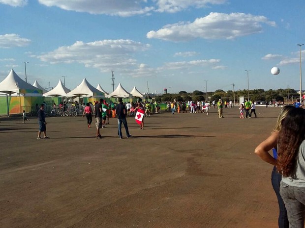
[{"label": "leftmost peaked white tent with green and yellow side panels", "polygon": [[9,97],[0,97],[0,114],[19,114],[22,110],[30,112],[33,103],[42,103],[42,90],[22,80],[13,69],[0,82],[0,92]]}]

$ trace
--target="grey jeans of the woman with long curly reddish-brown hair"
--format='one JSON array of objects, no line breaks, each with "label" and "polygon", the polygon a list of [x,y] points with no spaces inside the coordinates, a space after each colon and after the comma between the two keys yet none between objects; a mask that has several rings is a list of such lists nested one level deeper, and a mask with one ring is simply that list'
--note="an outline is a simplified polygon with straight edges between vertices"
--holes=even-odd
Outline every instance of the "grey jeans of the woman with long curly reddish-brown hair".
[{"label": "grey jeans of the woman with long curly reddish-brown hair", "polygon": [[289,228],[304,228],[305,187],[295,187],[281,181],[280,195],[286,205]]}]

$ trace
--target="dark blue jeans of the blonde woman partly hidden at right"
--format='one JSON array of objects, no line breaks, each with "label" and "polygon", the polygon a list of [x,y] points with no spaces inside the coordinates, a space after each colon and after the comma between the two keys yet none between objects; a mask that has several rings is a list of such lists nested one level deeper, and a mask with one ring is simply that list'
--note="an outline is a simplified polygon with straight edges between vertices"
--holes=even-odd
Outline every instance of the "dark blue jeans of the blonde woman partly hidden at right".
[{"label": "dark blue jeans of the blonde woman partly hidden at right", "polygon": [[276,194],[277,203],[278,203],[278,207],[279,207],[278,228],[289,228],[289,221],[288,221],[288,217],[287,217],[287,210],[285,207],[285,203],[279,194],[279,186],[280,186],[281,179],[282,179],[282,175],[276,171],[276,167],[274,166],[272,174],[271,174],[271,183],[272,183],[274,192]]}]

